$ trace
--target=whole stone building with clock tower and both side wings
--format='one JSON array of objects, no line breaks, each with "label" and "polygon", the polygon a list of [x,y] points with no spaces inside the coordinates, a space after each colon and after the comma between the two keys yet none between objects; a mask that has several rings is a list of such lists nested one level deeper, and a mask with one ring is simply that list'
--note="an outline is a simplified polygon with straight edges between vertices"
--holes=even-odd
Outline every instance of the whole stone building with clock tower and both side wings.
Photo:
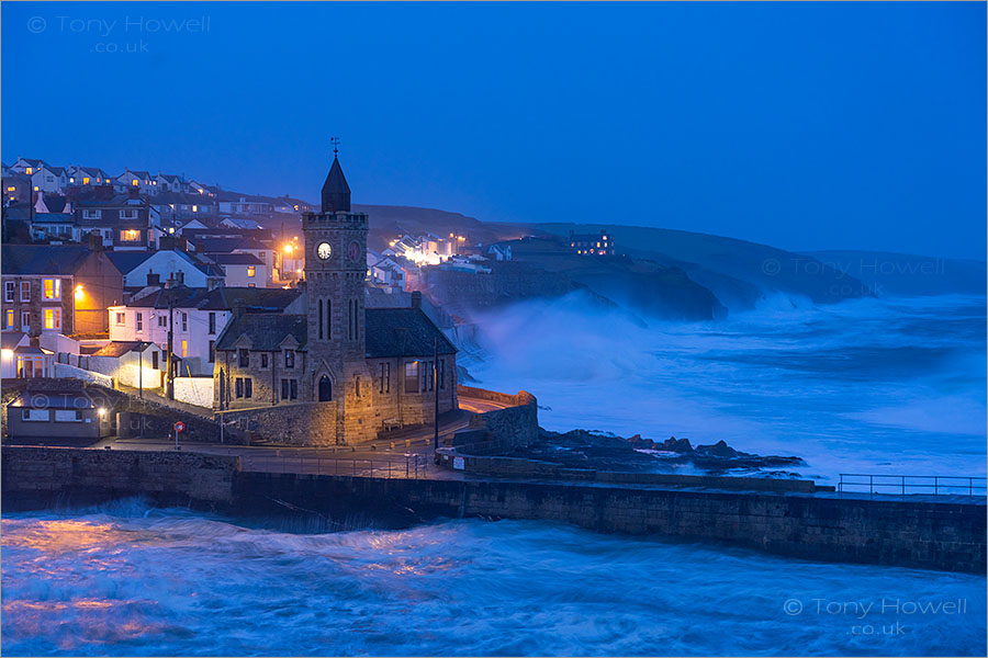
[{"label": "whole stone building with clock tower and both side wings", "polygon": [[303,293],[288,313],[235,311],[216,341],[214,408],[256,409],[259,423],[301,429],[303,442],[323,445],[430,423],[437,393],[440,413],[457,408],[457,350],[422,297],[366,308],[368,216],[350,209],[336,157],[321,212],[303,214],[302,230]]}]

